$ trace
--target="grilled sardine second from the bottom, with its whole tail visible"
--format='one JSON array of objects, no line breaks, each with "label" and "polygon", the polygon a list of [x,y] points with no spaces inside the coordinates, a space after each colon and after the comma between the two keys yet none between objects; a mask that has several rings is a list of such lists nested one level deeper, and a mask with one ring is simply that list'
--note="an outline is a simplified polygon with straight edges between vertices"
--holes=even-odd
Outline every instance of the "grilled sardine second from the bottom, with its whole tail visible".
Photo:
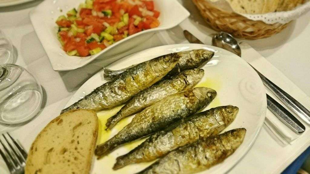
[{"label": "grilled sardine second from the bottom, with its whole tail visible", "polygon": [[117,157],[113,169],[132,163],[153,161],[181,146],[216,135],[236,118],[238,110],[238,107],[230,105],[216,107],[180,120],[171,127],[151,135],[129,153]]}]

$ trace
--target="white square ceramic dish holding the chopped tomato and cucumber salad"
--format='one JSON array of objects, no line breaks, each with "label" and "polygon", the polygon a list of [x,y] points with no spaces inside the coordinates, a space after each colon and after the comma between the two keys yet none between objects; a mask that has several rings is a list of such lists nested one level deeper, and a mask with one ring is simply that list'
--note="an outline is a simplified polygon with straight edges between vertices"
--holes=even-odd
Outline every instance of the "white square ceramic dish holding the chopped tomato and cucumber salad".
[{"label": "white square ceramic dish holding the chopped tomato and cucumber salad", "polygon": [[[77,8],[81,2],[84,2],[84,0],[45,0],[30,12],[30,20],[33,24],[33,28],[55,71],[73,70],[90,63],[94,59],[105,59],[111,55],[116,55],[132,49],[152,37],[156,31],[175,27],[190,15],[177,0],[154,0],[155,8],[161,12],[159,17],[161,24],[157,28],[136,33],[116,42],[102,50],[99,54],[81,58],[69,56],[61,49],[61,44],[57,39],[58,27],[55,24],[55,20],[58,16],[64,15],[73,7]],[[60,12],[60,10],[62,10],[62,12]]]}]

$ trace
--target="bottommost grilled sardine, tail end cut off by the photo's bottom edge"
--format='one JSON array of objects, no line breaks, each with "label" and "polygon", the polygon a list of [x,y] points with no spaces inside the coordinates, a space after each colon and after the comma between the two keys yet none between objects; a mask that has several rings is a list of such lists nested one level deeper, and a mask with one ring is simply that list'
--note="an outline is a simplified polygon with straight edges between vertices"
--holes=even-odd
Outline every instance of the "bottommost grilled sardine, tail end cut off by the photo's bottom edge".
[{"label": "bottommost grilled sardine, tail end cut off by the photo's bottom edge", "polygon": [[200,139],[170,152],[139,174],[189,174],[206,170],[221,163],[241,145],[245,128]]}]

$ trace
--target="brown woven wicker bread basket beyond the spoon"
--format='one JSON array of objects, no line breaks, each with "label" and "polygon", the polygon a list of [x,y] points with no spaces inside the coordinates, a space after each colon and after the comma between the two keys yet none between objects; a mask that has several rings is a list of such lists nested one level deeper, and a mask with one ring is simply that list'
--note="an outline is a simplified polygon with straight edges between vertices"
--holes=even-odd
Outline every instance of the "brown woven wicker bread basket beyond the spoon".
[{"label": "brown woven wicker bread basket beyond the spoon", "polygon": [[260,39],[281,32],[289,24],[266,24],[247,19],[237,13],[220,10],[206,0],[193,0],[206,22],[216,31],[231,33],[234,37]]}]

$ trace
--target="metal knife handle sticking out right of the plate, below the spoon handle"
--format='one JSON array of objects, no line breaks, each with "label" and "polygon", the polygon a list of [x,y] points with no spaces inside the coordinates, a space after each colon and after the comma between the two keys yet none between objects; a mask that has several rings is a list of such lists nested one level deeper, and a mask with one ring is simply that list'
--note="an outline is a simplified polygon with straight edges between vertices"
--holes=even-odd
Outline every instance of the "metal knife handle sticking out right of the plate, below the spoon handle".
[{"label": "metal knife handle sticking out right of the plate, below the spoon handle", "polygon": [[277,116],[284,124],[296,133],[303,133],[305,126],[294,117],[289,111],[287,111],[280,103],[275,101],[272,97],[267,95],[267,108]]}]

